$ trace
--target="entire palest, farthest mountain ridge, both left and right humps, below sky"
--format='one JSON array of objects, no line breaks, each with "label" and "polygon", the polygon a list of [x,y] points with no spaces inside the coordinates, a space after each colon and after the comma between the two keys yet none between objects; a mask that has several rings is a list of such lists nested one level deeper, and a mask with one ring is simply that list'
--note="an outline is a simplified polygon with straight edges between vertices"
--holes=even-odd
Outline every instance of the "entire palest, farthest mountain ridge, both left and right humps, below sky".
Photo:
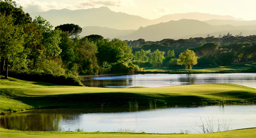
[{"label": "entire palest, farthest mountain ridge, both left and right humps, below sky", "polygon": [[238,20],[243,19],[234,18],[233,16],[214,15],[207,13],[177,13],[164,15],[155,20],[149,20],[137,15],[130,15],[122,12],[111,11],[108,7],[88,8],[82,10],[49,10],[46,12],[30,13],[32,18],[41,15],[53,26],[58,26],[65,23],[78,24],[80,27],[99,26],[119,30],[137,30],[140,27],[146,27],[161,22],[169,22],[171,20],[177,21],[180,19],[193,20]]}]

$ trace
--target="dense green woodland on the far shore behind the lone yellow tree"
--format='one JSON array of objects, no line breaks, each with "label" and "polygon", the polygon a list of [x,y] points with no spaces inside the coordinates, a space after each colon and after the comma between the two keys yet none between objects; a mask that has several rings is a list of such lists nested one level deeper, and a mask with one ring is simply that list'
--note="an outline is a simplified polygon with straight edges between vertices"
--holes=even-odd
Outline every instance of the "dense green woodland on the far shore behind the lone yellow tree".
[{"label": "dense green woodland on the far shore behind the lone yellow tree", "polygon": [[[186,49],[195,51],[198,57],[197,66],[231,65],[237,62],[256,61],[255,35],[244,37],[241,34],[233,36],[228,33],[218,38],[207,36],[206,38],[161,41],[138,39],[126,42],[133,48],[133,63],[140,67],[177,66],[176,57]],[[154,57],[151,51],[162,54],[158,54],[159,63],[152,62]]]}]

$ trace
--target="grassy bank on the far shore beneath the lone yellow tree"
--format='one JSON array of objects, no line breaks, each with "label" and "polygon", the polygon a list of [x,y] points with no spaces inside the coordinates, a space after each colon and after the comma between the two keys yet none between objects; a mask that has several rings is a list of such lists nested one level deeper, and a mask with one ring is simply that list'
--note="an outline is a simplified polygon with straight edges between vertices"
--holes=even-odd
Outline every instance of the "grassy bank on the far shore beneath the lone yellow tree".
[{"label": "grassy bank on the far shore beneath the lone yellow tree", "polygon": [[231,66],[211,66],[211,67],[197,67],[194,66],[192,70],[186,70],[185,67],[147,67],[146,70],[140,73],[247,73],[256,72],[256,63],[242,63]]}]

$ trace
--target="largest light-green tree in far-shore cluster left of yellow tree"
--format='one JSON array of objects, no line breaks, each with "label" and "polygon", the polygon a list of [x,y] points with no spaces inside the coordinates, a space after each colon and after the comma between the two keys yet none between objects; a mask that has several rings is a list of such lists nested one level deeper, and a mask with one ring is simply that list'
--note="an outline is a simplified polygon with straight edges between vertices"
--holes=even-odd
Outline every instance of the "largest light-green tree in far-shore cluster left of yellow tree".
[{"label": "largest light-green tree in far-shore cluster left of yellow tree", "polygon": [[156,49],[153,53],[150,54],[149,62],[153,67],[161,67],[164,60],[164,51],[159,51]]}]

